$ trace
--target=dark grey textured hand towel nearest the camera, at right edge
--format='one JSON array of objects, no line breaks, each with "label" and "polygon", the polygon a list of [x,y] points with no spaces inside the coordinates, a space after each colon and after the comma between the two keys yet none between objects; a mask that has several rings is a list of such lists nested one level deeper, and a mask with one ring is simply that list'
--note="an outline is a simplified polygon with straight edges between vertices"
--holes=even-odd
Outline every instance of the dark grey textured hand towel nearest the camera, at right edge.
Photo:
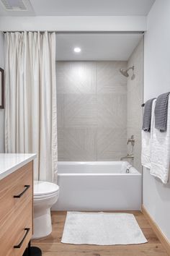
[{"label": "dark grey textured hand towel nearest the camera, at right edge", "polygon": [[159,95],[156,100],[155,127],[156,129],[159,129],[160,132],[166,132],[169,93]]}]

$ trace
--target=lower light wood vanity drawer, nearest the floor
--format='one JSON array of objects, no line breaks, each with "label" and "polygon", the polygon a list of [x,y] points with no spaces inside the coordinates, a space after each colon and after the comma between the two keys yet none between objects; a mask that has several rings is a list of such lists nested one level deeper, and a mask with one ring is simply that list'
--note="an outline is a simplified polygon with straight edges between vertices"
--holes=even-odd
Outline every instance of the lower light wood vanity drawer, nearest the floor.
[{"label": "lower light wood vanity drawer, nearest the floor", "polygon": [[[18,213],[8,220],[5,230],[0,229],[0,256],[22,256],[32,237],[32,200]],[[19,248],[14,248],[18,245]]]}]

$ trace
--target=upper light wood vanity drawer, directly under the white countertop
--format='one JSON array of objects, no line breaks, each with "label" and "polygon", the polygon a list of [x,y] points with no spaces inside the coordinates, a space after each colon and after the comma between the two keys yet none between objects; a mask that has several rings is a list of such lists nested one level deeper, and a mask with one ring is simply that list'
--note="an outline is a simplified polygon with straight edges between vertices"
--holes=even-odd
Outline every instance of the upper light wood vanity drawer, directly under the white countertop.
[{"label": "upper light wood vanity drawer, directly under the white countertop", "polygon": [[29,199],[32,199],[32,162],[0,181],[0,227]]}]

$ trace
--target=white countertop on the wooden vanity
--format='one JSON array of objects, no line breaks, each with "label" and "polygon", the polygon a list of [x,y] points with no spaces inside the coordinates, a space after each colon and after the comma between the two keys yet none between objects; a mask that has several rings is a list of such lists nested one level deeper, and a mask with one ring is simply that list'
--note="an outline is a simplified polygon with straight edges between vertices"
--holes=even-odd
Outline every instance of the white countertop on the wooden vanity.
[{"label": "white countertop on the wooden vanity", "polygon": [[0,154],[0,180],[35,158],[36,154]]}]

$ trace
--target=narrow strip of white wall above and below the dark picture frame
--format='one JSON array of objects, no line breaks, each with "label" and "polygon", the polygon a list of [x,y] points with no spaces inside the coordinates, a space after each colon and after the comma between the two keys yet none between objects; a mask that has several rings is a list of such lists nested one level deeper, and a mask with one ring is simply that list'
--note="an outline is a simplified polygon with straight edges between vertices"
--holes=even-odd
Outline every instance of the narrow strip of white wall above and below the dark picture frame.
[{"label": "narrow strip of white wall above and below the dark picture frame", "polygon": [[[0,67],[4,68],[4,35],[0,32]],[[0,109],[0,153],[4,153],[4,109]]]}]

